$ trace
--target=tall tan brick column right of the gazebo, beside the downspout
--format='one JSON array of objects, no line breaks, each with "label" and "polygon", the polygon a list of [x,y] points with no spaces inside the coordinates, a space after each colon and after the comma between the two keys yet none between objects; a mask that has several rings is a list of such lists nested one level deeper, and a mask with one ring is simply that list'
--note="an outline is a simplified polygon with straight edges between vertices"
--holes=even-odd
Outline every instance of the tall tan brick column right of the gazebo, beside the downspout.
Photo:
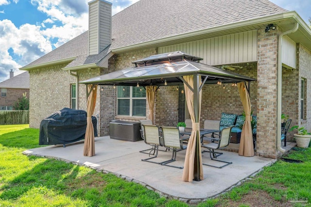
[{"label": "tall tan brick column right of the gazebo, beside the downspout", "polygon": [[277,30],[258,30],[257,154],[276,157]]}]

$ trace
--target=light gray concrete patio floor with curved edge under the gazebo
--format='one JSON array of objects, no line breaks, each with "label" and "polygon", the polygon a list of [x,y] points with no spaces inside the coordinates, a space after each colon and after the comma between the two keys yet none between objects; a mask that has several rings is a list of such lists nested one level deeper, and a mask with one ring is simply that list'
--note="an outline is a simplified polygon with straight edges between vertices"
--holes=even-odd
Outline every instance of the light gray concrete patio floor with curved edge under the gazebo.
[{"label": "light gray concrete patio floor with curved edge under the gazebo", "polygon": [[[63,145],[52,145],[26,150],[25,155],[51,157],[67,162],[86,165],[104,173],[114,173],[123,179],[140,183],[162,195],[189,203],[204,201],[215,197],[230,188],[239,185],[241,181],[256,174],[264,166],[274,163],[275,159],[253,156],[244,157],[237,153],[224,151],[219,159],[233,162],[222,169],[203,166],[204,180],[182,181],[182,169],[143,162],[147,154],[139,153],[149,149],[143,140],[137,142],[111,139],[109,136],[95,138],[95,156],[83,156],[84,140]],[[203,148],[204,149],[204,148]],[[177,159],[171,163],[183,166],[186,150],[177,152]],[[154,161],[170,159],[172,151],[159,151]],[[209,153],[202,154],[203,163],[221,165],[212,161]]]}]

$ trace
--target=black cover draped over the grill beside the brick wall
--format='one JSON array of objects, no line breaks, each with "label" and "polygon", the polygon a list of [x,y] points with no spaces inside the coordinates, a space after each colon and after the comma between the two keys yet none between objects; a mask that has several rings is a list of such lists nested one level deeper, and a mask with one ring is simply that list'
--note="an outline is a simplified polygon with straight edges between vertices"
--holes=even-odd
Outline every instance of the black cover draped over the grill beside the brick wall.
[{"label": "black cover draped over the grill beside the brick wall", "polygon": [[[86,134],[84,110],[63,108],[40,123],[39,145],[67,144],[84,139]],[[94,136],[97,137],[97,119],[92,116]]]}]

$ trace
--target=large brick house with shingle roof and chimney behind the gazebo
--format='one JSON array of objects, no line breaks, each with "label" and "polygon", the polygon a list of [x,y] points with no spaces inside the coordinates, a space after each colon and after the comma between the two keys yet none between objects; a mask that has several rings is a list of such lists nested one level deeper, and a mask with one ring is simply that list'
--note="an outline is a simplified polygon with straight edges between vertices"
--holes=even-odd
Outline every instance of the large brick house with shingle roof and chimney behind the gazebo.
[{"label": "large brick house with shingle roof and chimney behind the gazebo", "polygon": [[[268,0],[140,0],[111,17],[111,3],[93,0],[89,16],[87,32],[21,68],[30,73],[31,127],[63,107],[86,110],[86,86],[79,81],[150,55],[183,51],[257,79],[250,83],[258,120],[256,155],[276,157],[282,151],[276,145],[281,113],[292,125],[311,130],[311,30],[296,12]],[[161,87],[156,94],[156,124],[185,119],[182,87],[178,92],[176,86]],[[94,113],[100,136],[109,134],[111,120],[146,119],[144,90],[101,89]],[[220,120],[222,112],[242,110],[236,87],[203,87],[202,127],[206,119]]]}]

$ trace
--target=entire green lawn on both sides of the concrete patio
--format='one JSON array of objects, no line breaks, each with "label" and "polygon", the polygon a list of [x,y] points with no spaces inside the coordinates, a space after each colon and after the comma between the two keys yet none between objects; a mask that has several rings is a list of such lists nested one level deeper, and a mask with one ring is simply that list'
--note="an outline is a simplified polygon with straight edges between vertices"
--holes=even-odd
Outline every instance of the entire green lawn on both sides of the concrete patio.
[{"label": "entire green lawn on both sides of the concrete patio", "polygon": [[[38,145],[38,129],[0,125],[0,206],[12,207],[183,207],[152,190],[84,166],[22,155]],[[224,195],[200,203],[212,206],[294,206],[311,203],[311,148],[293,150]]]}]

